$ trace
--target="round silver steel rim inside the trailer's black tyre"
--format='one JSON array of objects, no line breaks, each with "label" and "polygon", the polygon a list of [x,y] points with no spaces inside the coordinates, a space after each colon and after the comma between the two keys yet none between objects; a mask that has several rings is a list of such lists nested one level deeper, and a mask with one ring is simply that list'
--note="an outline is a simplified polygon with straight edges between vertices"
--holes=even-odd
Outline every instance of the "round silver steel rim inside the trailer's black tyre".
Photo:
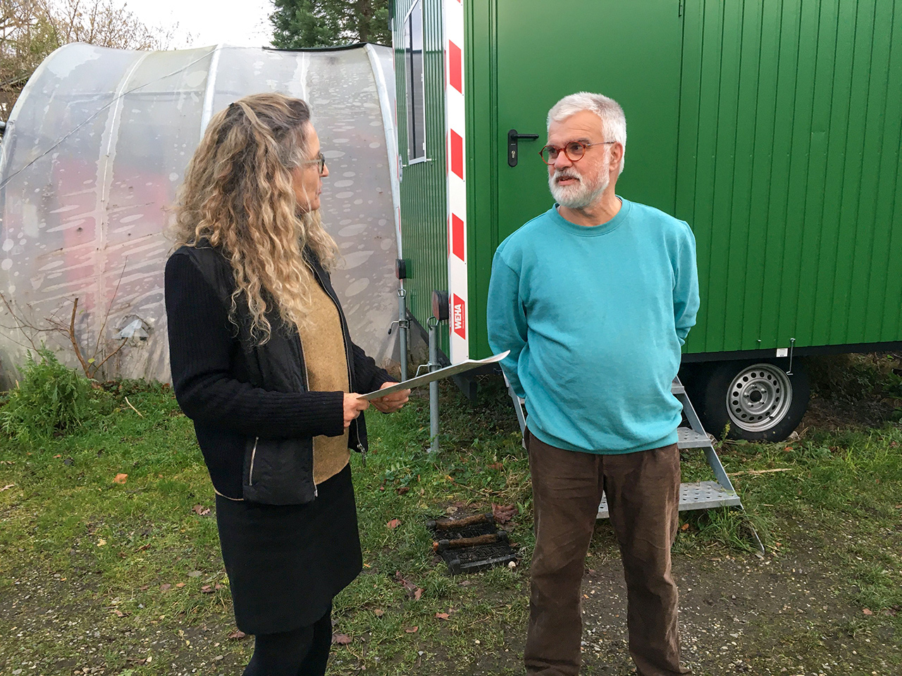
[{"label": "round silver steel rim inside the trailer's black tyre", "polygon": [[732,425],[747,432],[767,432],[786,417],[792,405],[792,383],[773,364],[754,364],[741,370],[727,391]]}]

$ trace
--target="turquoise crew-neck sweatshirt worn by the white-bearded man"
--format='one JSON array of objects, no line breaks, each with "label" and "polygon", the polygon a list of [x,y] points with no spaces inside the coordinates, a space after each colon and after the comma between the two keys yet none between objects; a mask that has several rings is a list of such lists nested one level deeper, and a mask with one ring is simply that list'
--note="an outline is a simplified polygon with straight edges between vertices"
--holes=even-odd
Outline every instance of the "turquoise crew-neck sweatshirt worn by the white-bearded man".
[{"label": "turquoise crew-neck sweatshirt worn by the white-bearded man", "polygon": [[557,205],[495,251],[488,331],[526,399],[529,431],[557,448],[646,451],[676,443],[670,393],[698,311],[695,238],[683,221],[622,199],[586,227]]}]

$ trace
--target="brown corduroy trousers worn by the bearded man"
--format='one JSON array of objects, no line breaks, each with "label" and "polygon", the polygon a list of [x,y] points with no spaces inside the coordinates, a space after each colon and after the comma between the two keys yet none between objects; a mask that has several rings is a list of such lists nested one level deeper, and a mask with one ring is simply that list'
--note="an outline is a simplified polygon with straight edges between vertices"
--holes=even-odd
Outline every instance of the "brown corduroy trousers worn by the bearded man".
[{"label": "brown corduroy trousers worn by the bearded man", "polygon": [[575,676],[583,633],[580,584],[585,553],[604,491],[620,544],[627,587],[630,655],[640,676],[676,676],[679,663],[676,538],[679,451],[676,444],[618,455],[566,451],[527,431],[535,511],[526,671]]}]

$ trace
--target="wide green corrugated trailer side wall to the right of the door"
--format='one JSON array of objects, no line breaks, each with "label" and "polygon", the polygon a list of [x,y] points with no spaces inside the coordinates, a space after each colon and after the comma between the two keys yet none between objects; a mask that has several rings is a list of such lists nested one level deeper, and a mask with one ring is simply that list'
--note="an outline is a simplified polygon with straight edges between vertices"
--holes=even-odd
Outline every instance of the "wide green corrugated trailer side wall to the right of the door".
[{"label": "wide green corrugated trailer side wall to the right of the door", "polygon": [[899,12],[686,2],[676,211],[703,298],[690,352],[902,339]]}]

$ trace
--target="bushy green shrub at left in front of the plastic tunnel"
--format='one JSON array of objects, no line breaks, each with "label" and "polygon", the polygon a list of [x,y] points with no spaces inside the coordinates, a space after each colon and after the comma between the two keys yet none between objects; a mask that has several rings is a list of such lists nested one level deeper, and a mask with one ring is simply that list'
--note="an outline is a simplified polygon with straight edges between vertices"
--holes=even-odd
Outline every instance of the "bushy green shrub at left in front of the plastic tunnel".
[{"label": "bushy green shrub at left in front of the plastic tunnel", "polygon": [[40,361],[28,352],[23,379],[0,408],[0,429],[23,443],[36,443],[52,434],[69,432],[94,412],[90,381],[60,364],[47,348]]}]

